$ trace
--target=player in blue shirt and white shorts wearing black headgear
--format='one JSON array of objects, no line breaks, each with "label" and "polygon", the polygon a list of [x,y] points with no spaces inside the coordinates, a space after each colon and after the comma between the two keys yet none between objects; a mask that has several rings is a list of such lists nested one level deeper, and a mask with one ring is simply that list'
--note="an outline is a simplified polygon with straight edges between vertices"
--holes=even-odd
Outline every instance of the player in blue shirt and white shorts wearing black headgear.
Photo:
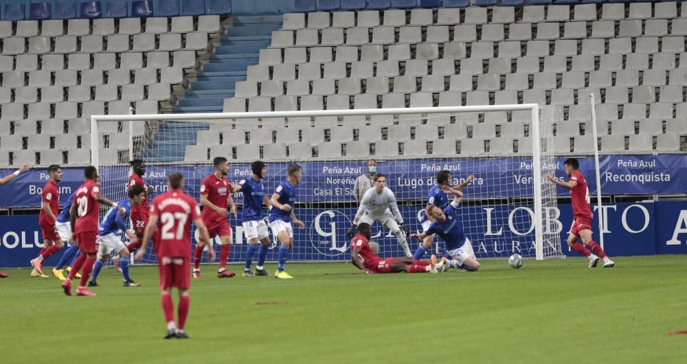
[{"label": "player in blue shirt and white shorts wearing black headgear", "polygon": [[[267,224],[264,223],[260,216],[262,205],[270,206],[267,194],[264,193],[264,185],[262,184],[262,179],[267,177],[267,165],[263,161],[254,161],[251,163],[251,170],[253,170],[253,176],[250,179],[244,179],[238,185],[232,187],[233,193],[243,192],[241,219],[243,220],[243,234],[246,240],[248,240],[246,262],[243,269],[244,277],[269,275],[264,270],[264,261],[267,259],[267,249],[271,245]],[[252,273],[251,264],[253,264],[256,250],[258,251],[258,264],[256,265],[255,273]]]}]

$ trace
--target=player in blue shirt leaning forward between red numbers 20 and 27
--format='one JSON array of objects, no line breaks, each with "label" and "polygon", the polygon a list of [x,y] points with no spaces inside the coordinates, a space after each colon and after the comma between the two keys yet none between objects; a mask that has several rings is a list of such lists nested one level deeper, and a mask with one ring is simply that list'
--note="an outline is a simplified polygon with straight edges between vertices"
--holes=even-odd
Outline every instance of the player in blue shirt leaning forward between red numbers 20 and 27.
[{"label": "player in blue shirt leaning forward between red numbers 20 and 27", "polygon": [[117,202],[117,206],[123,207],[126,211],[124,216],[117,214],[117,210],[110,209],[105,217],[102,218],[100,222],[100,236],[98,237],[98,260],[95,261],[95,266],[93,266],[93,274],[91,275],[91,282],[88,283],[89,287],[98,286],[98,274],[102,269],[104,261],[110,256],[110,252],[117,254],[120,257],[120,264],[122,266],[122,277],[124,277],[125,287],[137,287],[140,284],[133,282],[129,276],[129,251],[126,245],[122,242],[120,238],[122,231],[126,237],[131,240],[136,240],[136,235],[133,229],[128,229],[128,217],[131,210],[140,205],[144,198],[146,198],[146,190],[141,185],[133,185],[129,187],[128,198]]}]

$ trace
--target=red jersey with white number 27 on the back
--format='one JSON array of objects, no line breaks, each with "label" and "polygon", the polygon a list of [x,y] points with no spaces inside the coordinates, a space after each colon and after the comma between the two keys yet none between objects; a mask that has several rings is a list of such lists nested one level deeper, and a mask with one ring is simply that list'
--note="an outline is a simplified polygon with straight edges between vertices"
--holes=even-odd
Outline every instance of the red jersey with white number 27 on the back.
[{"label": "red jersey with white number 27 on the back", "polygon": [[191,256],[191,221],[201,216],[198,203],[181,190],[170,190],[153,199],[150,215],[159,216],[159,257]]}]

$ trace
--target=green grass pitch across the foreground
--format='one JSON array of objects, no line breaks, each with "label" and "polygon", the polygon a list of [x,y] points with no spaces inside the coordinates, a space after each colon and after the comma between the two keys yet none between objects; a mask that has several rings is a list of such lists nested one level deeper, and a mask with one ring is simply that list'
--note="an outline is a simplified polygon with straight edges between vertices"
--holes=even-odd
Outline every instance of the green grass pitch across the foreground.
[{"label": "green grass pitch across the foreground", "polygon": [[685,363],[687,336],[666,332],[687,330],[687,257],[616,263],[527,260],[514,270],[486,260],[480,272],[442,275],[289,264],[289,281],[218,280],[204,266],[187,341],[162,339],[155,267],[132,269],[139,288],[104,270],[98,297],[66,297],[54,277],[5,269],[0,362]]}]

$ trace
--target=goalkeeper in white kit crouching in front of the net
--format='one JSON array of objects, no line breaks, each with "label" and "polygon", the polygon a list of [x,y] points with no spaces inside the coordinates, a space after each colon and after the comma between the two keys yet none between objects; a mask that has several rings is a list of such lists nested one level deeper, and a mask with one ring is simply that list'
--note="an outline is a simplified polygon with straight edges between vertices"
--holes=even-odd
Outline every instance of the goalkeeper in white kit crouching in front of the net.
[{"label": "goalkeeper in white kit crouching in front of the net", "polygon": [[[348,229],[346,236],[353,238],[358,223],[366,223],[370,226],[375,221],[390,229],[396,236],[398,244],[403,248],[407,258],[412,258],[406,237],[410,231],[403,223],[403,216],[398,211],[396,196],[394,192],[386,187],[386,177],[384,174],[377,173],[374,176],[374,187],[365,192],[363,200],[360,201],[358,212],[355,214],[353,226]],[[399,226],[400,225],[400,226]]]}]

